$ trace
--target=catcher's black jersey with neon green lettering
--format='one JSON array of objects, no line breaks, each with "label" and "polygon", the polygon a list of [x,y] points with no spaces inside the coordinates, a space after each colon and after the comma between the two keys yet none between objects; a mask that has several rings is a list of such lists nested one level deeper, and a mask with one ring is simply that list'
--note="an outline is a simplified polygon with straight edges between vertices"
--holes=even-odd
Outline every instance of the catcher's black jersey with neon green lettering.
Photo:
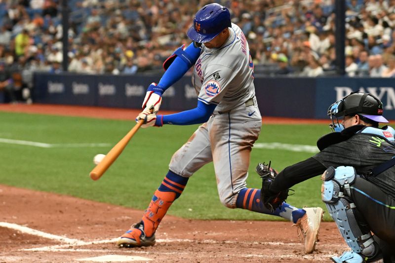
[{"label": "catcher's black jersey with neon green lettering", "polygon": [[[325,167],[353,166],[359,175],[366,174],[369,169],[393,157],[395,157],[393,145],[379,136],[363,133],[328,146],[313,156]],[[376,177],[366,177],[366,180],[395,198],[395,167],[391,167]]]}]

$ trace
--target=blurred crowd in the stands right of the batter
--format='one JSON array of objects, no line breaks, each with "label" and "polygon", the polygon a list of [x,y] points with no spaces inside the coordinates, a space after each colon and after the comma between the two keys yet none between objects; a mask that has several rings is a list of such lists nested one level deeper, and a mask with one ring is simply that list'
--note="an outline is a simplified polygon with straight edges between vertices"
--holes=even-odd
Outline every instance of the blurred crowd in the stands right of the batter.
[{"label": "blurred crowd in the stands right of the batter", "polygon": [[[346,74],[394,77],[395,0],[345,2]],[[241,15],[257,73],[337,74],[333,0],[284,1],[267,10]]]}]

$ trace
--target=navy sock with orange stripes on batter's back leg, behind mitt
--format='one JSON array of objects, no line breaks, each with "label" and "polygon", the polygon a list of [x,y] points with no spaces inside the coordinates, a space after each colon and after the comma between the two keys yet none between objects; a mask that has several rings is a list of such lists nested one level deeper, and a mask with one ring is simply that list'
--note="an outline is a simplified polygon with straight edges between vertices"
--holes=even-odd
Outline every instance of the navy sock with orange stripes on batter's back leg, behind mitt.
[{"label": "navy sock with orange stripes on batter's back leg, behind mitt", "polygon": [[292,221],[294,224],[296,224],[299,218],[306,214],[305,210],[298,209],[285,202],[281,204],[281,208],[277,208],[272,212],[263,205],[260,196],[261,189],[244,188],[238,193],[236,207],[262,214],[279,216],[286,220]]}]

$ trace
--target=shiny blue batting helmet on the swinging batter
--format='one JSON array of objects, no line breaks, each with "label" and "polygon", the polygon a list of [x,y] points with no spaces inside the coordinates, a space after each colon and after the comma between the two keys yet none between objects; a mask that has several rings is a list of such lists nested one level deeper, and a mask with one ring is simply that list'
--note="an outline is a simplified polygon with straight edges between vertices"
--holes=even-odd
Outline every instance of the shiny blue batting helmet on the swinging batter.
[{"label": "shiny blue batting helmet on the swinging batter", "polygon": [[198,43],[205,43],[228,27],[232,27],[228,8],[218,3],[210,3],[197,11],[194,25],[188,30],[187,35]]}]

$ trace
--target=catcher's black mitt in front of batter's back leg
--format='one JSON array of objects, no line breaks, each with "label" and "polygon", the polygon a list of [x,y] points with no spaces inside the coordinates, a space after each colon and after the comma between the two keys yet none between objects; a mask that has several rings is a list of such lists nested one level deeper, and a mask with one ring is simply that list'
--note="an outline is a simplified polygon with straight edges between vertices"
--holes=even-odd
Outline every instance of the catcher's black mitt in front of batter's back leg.
[{"label": "catcher's black mitt in front of batter's back leg", "polygon": [[258,163],[256,167],[256,172],[262,178],[262,189],[261,189],[261,199],[266,208],[270,209],[272,212],[280,207],[282,202],[288,197],[289,189],[282,190],[280,192],[274,193],[270,190],[270,184],[277,176],[277,171],[270,167],[272,161],[269,164]]}]

